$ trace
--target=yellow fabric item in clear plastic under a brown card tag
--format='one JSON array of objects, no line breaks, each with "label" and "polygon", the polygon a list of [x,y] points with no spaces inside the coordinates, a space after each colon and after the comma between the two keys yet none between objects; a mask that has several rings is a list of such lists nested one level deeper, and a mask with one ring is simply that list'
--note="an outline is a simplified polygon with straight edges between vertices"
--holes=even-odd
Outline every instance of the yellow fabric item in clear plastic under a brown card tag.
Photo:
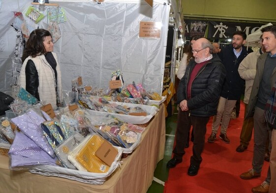
[{"label": "yellow fabric item in clear plastic under a brown card tag", "polygon": [[94,173],[105,173],[109,166],[101,161],[95,152],[104,142],[99,136],[92,136],[76,156],[76,160],[87,170]]}]

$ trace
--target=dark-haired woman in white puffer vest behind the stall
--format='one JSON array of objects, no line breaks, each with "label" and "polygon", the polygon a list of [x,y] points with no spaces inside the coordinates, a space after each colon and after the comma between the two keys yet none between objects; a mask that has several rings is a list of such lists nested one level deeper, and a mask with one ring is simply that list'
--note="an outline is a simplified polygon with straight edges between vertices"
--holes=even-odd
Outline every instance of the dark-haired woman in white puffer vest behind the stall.
[{"label": "dark-haired woman in white puffer vest behind the stall", "polygon": [[26,42],[19,83],[37,100],[51,103],[53,109],[61,104],[61,69],[48,30],[35,29]]}]

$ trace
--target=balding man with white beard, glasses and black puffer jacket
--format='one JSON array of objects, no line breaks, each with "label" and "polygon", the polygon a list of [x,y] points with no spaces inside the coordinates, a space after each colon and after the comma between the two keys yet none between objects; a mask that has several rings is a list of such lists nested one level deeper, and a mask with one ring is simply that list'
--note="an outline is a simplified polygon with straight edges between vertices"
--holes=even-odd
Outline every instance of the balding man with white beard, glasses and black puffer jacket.
[{"label": "balding man with white beard, glasses and black puffer jacket", "polygon": [[186,73],[177,89],[179,111],[177,117],[176,146],[174,156],[167,163],[168,168],[182,162],[185,154],[190,126],[193,127],[193,155],[190,158],[188,175],[194,176],[202,162],[206,125],[210,116],[216,114],[219,93],[226,76],[226,70],[217,55],[212,55],[212,43],[200,38],[193,43],[194,59],[189,61]]}]

